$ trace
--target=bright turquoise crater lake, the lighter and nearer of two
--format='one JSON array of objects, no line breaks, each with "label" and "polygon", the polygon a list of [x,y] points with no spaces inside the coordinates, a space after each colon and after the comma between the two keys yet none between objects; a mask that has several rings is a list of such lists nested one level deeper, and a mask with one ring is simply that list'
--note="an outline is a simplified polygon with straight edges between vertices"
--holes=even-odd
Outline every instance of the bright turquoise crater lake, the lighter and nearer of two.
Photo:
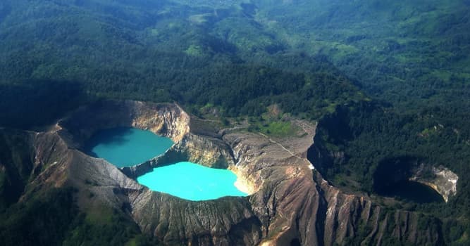
[{"label": "bright turquoise crater lake, the lighter and nearer of two", "polygon": [[230,170],[204,167],[192,162],[157,167],[137,178],[137,182],[150,190],[193,201],[248,195],[234,186],[236,180],[237,176]]}]

